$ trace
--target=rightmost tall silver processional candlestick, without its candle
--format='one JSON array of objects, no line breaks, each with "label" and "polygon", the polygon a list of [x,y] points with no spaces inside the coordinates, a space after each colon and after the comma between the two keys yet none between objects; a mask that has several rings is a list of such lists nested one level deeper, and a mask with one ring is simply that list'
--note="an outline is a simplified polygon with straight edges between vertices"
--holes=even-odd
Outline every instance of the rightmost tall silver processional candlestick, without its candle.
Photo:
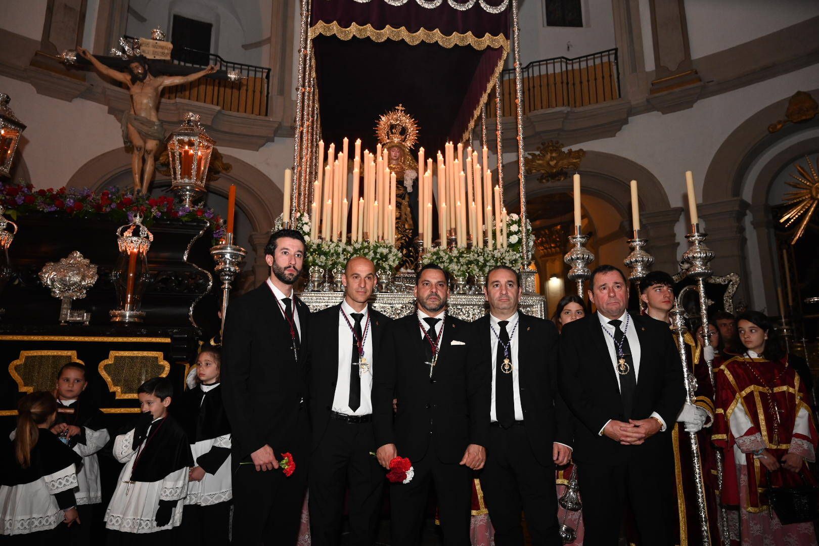
[{"label": "rightmost tall silver processional candlestick, without its candle", "polygon": [[[705,279],[711,277],[711,260],[714,259],[713,250],[705,245],[705,238],[707,233],[699,231],[699,223],[691,224],[691,232],[686,235],[688,239],[688,250],[682,254],[682,262],[688,264],[686,269],[686,277],[694,278],[697,281],[697,291],[699,292],[699,319],[703,325],[703,339],[706,343],[710,342],[711,332],[708,329],[708,296],[705,293]],[[714,380],[714,371],[712,360],[706,360],[706,368],[708,368],[708,380],[711,381],[711,387],[714,395],[717,394],[717,382]],[[715,451],[717,461],[717,490],[722,491],[722,452],[718,449]],[[728,536],[728,512],[725,505],[720,499],[720,542],[722,544],[730,544]]]}]

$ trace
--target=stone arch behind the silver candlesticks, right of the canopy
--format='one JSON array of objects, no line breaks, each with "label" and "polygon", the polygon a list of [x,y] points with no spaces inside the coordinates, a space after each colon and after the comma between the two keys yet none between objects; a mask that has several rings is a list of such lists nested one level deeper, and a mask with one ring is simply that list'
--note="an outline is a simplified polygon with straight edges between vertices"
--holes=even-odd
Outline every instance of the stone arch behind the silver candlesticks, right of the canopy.
[{"label": "stone arch behind the silver candlesticks, right of the canopy", "polygon": [[[504,165],[507,180],[504,184],[504,201],[507,208],[519,206],[518,161]],[[637,180],[640,188],[640,223],[649,237],[649,251],[654,255],[655,268],[663,271],[678,269],[675,226],[681,207],[672,207],[667,192],[649,169],[625,157],[604,151],[586,151],[586,157],[580,164],[577,173],[582,178],[581,192],[597,196],[612,205],[622,216],[623,234],[631,235],[631,180]],[[572,173],[573,174],[573,173]],[[527,199],[552,193],[572,192],[572,178],[568,176],[560,182],[540,183],[539,174],[528,174],[526,177]],[[625,255],[623,255],[625,258]]]}]

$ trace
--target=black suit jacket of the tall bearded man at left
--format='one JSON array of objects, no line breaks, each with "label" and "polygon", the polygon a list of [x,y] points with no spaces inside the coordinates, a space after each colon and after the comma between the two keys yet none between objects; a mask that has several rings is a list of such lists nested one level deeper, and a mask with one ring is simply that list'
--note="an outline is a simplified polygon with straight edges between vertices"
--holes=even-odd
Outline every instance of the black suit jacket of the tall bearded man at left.
[{"label": "black suit jacket of the tall bearded man at left", "polygon": [[310,309],[293,299],[301,325],[298,362],[290,327],[266,282],[232,300],[225,317],[221,388],[233,453],[242,459],[265,444],[278,456],[295,449],[289,446],[304,434],[296,422],[301,399],[307,399]]}]

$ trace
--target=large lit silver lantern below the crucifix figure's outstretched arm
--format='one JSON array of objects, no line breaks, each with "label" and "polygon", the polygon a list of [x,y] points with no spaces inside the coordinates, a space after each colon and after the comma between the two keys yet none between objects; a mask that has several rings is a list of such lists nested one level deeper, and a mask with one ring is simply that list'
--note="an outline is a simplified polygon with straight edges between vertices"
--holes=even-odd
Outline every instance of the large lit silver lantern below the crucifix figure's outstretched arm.
[{"label": "large lit silver lantern below the crucifix figure's outstretched arm", "polygon": [[205,193],[207,169],[214,140],[199,124],[199,115],[188,112],[179,129],[168,135],[171,189],[190,208]]}]

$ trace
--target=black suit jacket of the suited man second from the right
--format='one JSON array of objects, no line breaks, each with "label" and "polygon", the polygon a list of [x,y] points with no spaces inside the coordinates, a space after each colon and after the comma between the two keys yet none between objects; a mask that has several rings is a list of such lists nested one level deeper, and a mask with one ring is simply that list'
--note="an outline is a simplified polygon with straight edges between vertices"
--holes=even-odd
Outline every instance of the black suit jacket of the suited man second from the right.
[{"label": "black suit jacket of the suited man second from the right", "polygon": [[[553,464],[552,443],[572,445],[571,414],[558,390],[558,330],[554,323],[518,311],[518,386],[526,435],[535,458]],[[495,368],[492,354],[491,318],[488,314],[475,321],[481,341],[483,365],[491,378]],[[513,325],[509,325],[509,328]],[[491,404],[491,403],[490,403]]]}]

